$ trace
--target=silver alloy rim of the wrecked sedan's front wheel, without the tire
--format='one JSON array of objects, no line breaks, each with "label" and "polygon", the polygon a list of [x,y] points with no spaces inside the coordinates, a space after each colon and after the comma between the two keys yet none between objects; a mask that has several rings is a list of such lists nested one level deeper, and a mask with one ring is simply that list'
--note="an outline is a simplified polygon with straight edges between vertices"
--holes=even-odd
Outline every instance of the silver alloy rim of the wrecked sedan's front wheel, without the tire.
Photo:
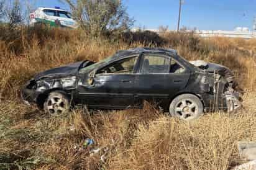
[{"label": "silver alloy rim of the wrecked sedan's front wheel, without the tire", "polygon": [[50,114],[63,114],[66,110],[65,102],[60,97],[51,97],[48,100],[47,109]]}]

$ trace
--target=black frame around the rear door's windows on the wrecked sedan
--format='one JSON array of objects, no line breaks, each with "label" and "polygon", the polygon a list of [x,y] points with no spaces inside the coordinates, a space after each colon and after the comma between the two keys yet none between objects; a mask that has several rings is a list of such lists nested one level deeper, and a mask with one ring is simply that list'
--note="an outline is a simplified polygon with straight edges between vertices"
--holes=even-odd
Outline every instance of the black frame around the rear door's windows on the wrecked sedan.
[{"label": "black frame around the rear door's windows on the wrecked sedan", "polygon": [[[168,73],[149,73],[149,74],[140,73],[140,69],[142,68],[142,65],[143,65],[143,62],[144,62],[144,55],[156,55],[156,56],[163,56],[165,58],[169,58],[170,59],[170,65],[169,65],[169,68],[168,68],[168,70],[169,70]],[[182,73],[170,73],[171,60],[176,61],[176,63],[178,63],[178,65],[180,65],[184,69],[184,71]],[[138,71],[137,74],[144,74],[144,75],[150,75],[150,74],[189,74],[188,69],[184,65],[182,65],[180,63],[180,61],[175,60],[175,58],[173,58],[171,55],[167,55],[166,53],[165,54],[163,54],[163,53],[142,53],[140,55],[140,64],[139,64],[139,68],[138,68],[137,71]]]}]

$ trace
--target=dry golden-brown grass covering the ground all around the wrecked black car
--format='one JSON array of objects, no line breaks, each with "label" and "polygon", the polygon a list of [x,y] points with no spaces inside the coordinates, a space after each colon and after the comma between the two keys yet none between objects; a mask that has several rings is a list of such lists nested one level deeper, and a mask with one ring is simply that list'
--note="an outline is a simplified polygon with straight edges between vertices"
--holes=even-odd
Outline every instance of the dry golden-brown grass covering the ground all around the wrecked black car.
[{"label": "dry golden-brown grass covering the ground all around the wrecked black car", "polygon": [[[228,169],[243,161],[237,141],[256,140],[255,40],[162,35],[162,47],[175,48],[189,60],[230,67],[246,91],[245,108],[237,114],[213,113],[187,123],[149,104],[143,110],[77,109],[60,117],[27,107],[19,89],[35,73],[78,60],[98,61],[143,42],[91,40],[79,30],[25,32],[0,40],[0,169]],[[109,148],[106,163],[102,152],[89,156],[93,146],[82,147],[88,137],[95,147]]]}]

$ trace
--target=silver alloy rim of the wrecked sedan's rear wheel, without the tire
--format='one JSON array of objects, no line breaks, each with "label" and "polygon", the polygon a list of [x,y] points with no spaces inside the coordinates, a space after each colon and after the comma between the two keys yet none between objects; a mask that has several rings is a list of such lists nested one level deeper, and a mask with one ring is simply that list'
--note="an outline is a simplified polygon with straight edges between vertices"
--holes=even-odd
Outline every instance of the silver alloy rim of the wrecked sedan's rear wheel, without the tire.
[{"label": "silver alloy rim of the wrecked sedan's rear wheel, without the tire", "polygon": [[175,114],[183,120],[193,118],[198,112],[198,105],[188,99],[178,102]]}]

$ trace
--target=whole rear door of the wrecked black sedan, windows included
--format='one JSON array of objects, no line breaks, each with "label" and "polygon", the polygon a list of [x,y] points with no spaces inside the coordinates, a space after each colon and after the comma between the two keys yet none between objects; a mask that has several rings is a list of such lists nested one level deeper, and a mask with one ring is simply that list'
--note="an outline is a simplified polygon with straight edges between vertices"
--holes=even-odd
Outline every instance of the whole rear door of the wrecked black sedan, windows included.
[{"label": "whole rear door of the wrecked black sedan, windows included", "polygon": [[135,77],[135,103],[162,103],[184,89],[190,74],[170,56],[144,53]]}]

